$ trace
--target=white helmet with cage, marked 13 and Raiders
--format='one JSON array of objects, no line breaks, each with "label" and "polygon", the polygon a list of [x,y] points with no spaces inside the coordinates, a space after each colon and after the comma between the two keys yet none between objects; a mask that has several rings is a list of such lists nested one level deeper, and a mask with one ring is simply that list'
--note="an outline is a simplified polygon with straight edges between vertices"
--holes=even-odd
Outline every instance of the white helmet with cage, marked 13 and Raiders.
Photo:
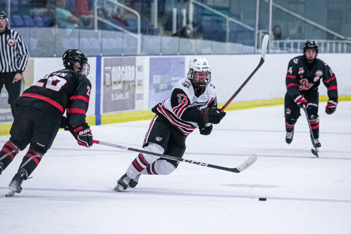
[{"label": "white helmet with cage, marked 13 and Raiders", "polygon": [[195,88],[205,88],[211,81],[211,66],[207,59],[194,57],[189,63],[188,79]]}]

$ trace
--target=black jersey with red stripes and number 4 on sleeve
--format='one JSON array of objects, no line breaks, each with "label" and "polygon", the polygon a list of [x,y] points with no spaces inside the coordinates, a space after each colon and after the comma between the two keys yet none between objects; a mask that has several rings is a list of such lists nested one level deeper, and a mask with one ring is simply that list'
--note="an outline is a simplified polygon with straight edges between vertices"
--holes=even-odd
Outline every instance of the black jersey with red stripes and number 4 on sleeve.
[{"label": "black jersey with red stripes and number 4 on sleeve", "polygon": [[286,73],[285,83],[287,93],[293,100],[306,92],[318,91],[320,80],[327,87],[330,100],[338,101],[338,86],[336,77],[330,67],[320,59],[307,65],[304,55],[290,60]]}]

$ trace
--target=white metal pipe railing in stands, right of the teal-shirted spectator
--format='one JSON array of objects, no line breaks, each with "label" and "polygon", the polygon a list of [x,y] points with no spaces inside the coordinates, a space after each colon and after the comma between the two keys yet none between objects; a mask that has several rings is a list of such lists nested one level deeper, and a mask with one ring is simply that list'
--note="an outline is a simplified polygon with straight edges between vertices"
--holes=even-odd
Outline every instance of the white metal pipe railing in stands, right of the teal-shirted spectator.
[{"label": "white metal pipe railing in stands, right of the teal-shirted spectator", "polygon": [[130,8],[130,7],[127,7],[127,6],[125,6],[125,5],[123,5],[123,4],[120,4],[119,2],[117,2],[117,1],[114,1],[114,0],[105,0],[105,1],[109,1],[109,2],[111,2],[111,3],[113,3],[113,4],[115,4],[115,5],[117,5],[117,6],[119,6],[119,7],[122,7],[122,8],[124,8],[124,9],[126,9],[126,10],[128,10],[128,11],[130,11],[130,12],[132,12],[133,14],[135,14],[136,16],[137,16],[137,34],[135,34],[135,33],[132,33],[132,32],[130,32],[130,31],[128,31],[127,29],[125,29],[125,28],[123,28],[123,27],[121,27],[121,26],[118,26],[118,25],[115,25],[115,24],[113,24],[111,21],[109,21],[109,20],[106,20],[106,19],[104,19],[104,18],[101,18],[101,17],[99,17],[98,16],[98,1],[99,0],[95,0],[94,1],[94,29],[95,29],[95,31],[98,31],[98,20],[99,21],[101,21],[101,22],[104,22],[105,24],[108,24],[108,25],[110,25],[110,26],[112,26],[112,27],[114,27],[114,28],[116,28],[116,29],[118,29],[118,30],[120,30],[120,31],[123,31],[123,32],[125,32],[125,33],[128,33],[128,34],[130,34],[131,36],[133,36],[133,37],[135,37],[136,39],[137,39],[137,54],[138,55],[140,55],[140,45],[141,45],[141,37],[140,37],[140,14],[137,12],[137,11],[135,11],[134,9],[132,9],[132,8]]}]

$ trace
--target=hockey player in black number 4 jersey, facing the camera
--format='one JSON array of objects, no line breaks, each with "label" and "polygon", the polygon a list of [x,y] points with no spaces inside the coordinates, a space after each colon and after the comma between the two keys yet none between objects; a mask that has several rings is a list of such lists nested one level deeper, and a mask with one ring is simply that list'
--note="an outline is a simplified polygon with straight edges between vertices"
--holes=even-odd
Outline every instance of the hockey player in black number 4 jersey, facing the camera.
[{"label": "hockey player in black number 4 jersey, facing the camera", "polygon": [[318,45],[314,40],[307,40],[304,45],[303,55],[290,60],[285,82],[287,92],[285,94],[285,128],[286,143],[290,144],[294,134],[294,124],[300,116],[300,108],[306,106],[312,128],[316,147],[321,144],[319,138],[318,86],[322,80],[327,88],[329,100],[325,107],[327,114],[336,111],[338,105],[338,87],[335,74],[322,60],[317,59]]}]

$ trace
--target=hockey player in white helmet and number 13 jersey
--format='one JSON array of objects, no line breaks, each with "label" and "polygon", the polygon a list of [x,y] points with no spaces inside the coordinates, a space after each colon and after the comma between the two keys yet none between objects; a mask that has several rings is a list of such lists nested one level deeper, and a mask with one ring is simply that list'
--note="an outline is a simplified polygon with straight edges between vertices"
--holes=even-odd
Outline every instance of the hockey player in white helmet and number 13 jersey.
[{"label": "hockey player in white helmet and number 13 jersey", "polygon": [[[192,58],[188,76],[172,88],[171,97],[152,108],[156,115],[150,123],[143,142],[145,151],[182,158],[185,139],[199,127],[200,134],[209,135],[212,123],[218,124],[225,116],[217,108],[216,90],[210,83],[211,66],[205,58]],[[141,174],[168,175],[179,161],[139,153],[126,173],[117,181],[114,190],[120,192],[138,184]]]}]

